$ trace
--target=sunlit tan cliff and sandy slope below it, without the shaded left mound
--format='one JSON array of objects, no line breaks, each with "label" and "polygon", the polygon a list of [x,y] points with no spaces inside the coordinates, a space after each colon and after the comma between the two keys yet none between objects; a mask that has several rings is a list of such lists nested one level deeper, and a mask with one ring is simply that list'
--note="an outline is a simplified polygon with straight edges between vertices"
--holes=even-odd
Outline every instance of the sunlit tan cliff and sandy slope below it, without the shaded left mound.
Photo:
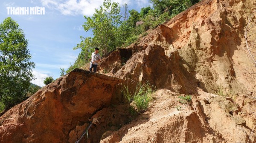
[{"label": "sunlit tan cliff and sandy slope below it, without the shaded left mound", "polygon": [[[177,112],[177,95],[156,94],[157,103],[148,112],[102,143],[256,142],[256,102],[248,98],[256,93],[256,77],[245,76],[247,69],[256,69],[244,38],[255,10],[253,0],[202,0],[137,43],[115,51],[119,58],[111,60],[113,66],[102,62],[100,72],[109,71],[127,83],[149,81],[194,96],[192,107]],[[158,99],[162,96],[166,100]]]}]

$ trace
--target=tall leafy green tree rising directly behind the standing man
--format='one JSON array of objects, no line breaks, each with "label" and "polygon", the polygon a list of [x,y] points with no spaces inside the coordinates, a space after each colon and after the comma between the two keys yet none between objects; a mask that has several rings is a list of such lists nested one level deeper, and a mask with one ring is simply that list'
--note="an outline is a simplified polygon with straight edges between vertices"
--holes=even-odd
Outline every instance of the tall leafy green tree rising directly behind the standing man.
[{"label": "tall leafy green tree rising directly behind the standing man", "polygon": [[[118,45],[116,36],[117,27],[120,25],[122,17],[118,3],[111,3],[111,0],[104,0],[99,9],[95,9],[92,17],[86,17],[83,27],[85,31],[92,30],[93,37],[85,39],[84,49],[88,51],[91,47],[99,47],[103,56],[114,50]],[[87,41],[90,41],[90,44]],[[83,42],[83,41],[81,41]]]}]

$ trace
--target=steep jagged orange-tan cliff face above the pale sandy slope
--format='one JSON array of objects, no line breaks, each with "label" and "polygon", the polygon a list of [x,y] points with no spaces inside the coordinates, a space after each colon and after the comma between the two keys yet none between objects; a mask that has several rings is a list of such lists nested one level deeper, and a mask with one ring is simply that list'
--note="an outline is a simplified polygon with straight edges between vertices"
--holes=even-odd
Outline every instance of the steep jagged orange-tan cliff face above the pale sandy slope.
[{"label": "steep jagged orange-tan cliff face above the pale sandy slope", "polygon": [[244,28],[255,3],[203,0],[148,31],[127,48],[133,51],[130,59],[108,71],[180,93],[195,87],[212,93],[255,91],[256,80],[248,82],[244,76],[244,70],[253,67],[244,50]]}]

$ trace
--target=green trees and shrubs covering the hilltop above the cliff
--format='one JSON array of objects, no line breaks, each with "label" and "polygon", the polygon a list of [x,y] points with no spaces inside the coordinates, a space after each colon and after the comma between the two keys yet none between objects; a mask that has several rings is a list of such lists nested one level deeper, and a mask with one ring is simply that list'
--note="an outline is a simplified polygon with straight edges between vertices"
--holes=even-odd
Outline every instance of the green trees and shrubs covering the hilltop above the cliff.
[{"label": "green trees and shrubs covering the hilltop above the cliff", "polygon": [[93,37],[81,37],[81,42],[73,48],[81,49],[81,52],[66,73],[88,63],[95,47],[99,47],[100,54],[106,56],[116,48],[134,43],[140,35],[146,35],[147,30],[154,29],[159,23],[165,23],[199,1],[151,0],[153,7],[143,7],[138,12],[135,9],[128,11],[127,4],[121,11],[118,3],[104,0],[103,5],[95,9],[92,17],[84,16],[84,31],[92,30]]}]

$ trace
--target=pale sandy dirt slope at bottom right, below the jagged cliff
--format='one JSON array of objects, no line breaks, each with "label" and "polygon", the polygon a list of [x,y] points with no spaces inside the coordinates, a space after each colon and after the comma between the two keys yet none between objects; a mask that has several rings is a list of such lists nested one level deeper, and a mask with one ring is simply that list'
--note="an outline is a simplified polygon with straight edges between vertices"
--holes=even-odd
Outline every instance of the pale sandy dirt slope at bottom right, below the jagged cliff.
[{"label": "pale sandy dirt slope at bottom right, below the jagged cliff", "polygon": [[[198,89],[192,103],[178,102],[180,94],[161,89],[149,110],[101,143],[246,143],[250,129],[229,98]],[[177,106],[181,110],[177,110]],[[233,110],[234,114],[229,112]],[[252,137],[249,143],[254,143]]]}]

